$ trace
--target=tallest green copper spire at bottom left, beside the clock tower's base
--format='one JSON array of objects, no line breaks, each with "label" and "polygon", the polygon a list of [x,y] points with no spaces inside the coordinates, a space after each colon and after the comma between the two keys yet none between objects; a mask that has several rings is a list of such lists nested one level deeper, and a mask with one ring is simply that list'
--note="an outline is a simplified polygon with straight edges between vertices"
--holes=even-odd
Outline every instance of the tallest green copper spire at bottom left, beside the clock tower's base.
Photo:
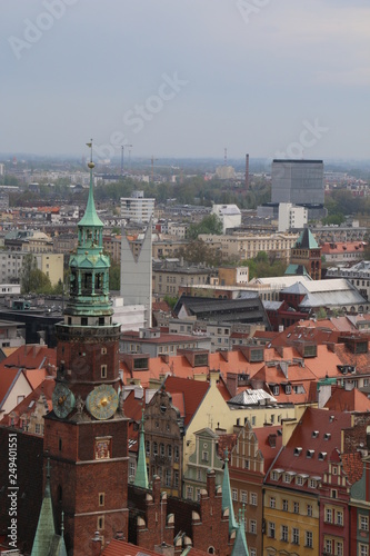
[{"label": "tallest green copper spire at bottom left, beside the clock tower's base", "polygon": [[54,534],[54,517],[50,495],[50,459],[48,458],[47,484],[44,487],[44,495],[33,539],[31,556],[49,556]]}]

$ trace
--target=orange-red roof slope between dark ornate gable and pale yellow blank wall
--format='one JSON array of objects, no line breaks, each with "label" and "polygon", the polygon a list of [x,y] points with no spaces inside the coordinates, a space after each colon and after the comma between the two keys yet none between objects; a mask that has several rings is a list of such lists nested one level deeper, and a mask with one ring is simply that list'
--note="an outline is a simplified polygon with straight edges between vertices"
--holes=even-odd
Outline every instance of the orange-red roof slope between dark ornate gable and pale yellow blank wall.
[{"label": "orange-red roof slope between dark ornate gable and pale yellow blank wall", "polygon": [[198,411],[210,385],[200,380],[188,380],[184,378],[167,377],[164,380],[166,391],[172,395],[182,394],[184,400],[184,426],[191,421],[193,415]]}]

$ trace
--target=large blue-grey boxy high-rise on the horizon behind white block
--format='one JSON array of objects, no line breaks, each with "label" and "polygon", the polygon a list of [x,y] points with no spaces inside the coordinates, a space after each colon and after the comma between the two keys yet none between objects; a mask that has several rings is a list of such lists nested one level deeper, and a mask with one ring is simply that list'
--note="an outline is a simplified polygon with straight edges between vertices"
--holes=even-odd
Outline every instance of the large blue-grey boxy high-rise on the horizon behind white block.
[{"label": "large blue-grey boxy high-rise on the horizon behind white block", "polygon": [[271,201],[323,205],[322,160],[273,160]]}]

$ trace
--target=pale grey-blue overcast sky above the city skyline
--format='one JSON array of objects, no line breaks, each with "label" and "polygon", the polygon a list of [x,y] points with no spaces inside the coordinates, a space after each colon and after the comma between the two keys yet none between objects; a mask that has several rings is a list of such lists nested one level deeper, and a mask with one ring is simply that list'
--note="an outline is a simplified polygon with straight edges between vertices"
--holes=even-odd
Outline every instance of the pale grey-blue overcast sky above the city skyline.
[{"label": "pale grey-blue overcast sky above the city skyline", "polygon": [[[48,9],[49,7],[49,9]],[[369,158],[368,0],[2,0],[0,152]]]}]

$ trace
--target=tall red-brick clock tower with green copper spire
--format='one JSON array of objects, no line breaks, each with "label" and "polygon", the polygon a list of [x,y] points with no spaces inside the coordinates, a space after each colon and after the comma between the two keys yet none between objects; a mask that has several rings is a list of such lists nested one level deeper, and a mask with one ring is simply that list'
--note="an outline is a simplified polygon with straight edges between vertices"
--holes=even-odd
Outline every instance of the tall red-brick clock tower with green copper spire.
[{"label": "tall red-brick clock tower with green copper spire", "polygon": [[[92,143],[88,143],[90,149]],[[92,151],[91,151],[92,152]],[[52,411],[44,419],[44,457],[53,469],[50,492],[56,515],[64,515],[64,538],[73,556],[128,535],[128,419],[119,377],[120,325],[112,321],[109,258],[103,224],[90,189],[70,257],[70,297],[57,325],[58,375]]]}]

